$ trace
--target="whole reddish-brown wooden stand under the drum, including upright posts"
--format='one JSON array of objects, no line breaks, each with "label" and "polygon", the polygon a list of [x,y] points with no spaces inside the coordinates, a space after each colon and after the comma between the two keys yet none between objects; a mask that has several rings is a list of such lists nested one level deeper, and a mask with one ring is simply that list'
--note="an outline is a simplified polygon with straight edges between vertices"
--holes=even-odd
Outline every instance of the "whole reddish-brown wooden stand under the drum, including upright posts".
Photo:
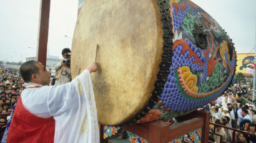
[{"label": "whole reddish-brown wooden stand under the drum, including upright posts", "polygon": [[[136,134],[137,136],[143,137],[149,141],[149,143],[167,143],[173,139],[176,139],[177,137],[188,134],[189,132],[202,127],[201,142],[208,142],[210,125],[209,111],[205,109],[194,111],[179,117],[179,120],[182,120],[182,122],[174,125],[167,124],[164,121],[154,121],[128,125],[125,126],[124,129]],[[103,143],[103,126],[101,126],[100,130],[101,143]]]}]

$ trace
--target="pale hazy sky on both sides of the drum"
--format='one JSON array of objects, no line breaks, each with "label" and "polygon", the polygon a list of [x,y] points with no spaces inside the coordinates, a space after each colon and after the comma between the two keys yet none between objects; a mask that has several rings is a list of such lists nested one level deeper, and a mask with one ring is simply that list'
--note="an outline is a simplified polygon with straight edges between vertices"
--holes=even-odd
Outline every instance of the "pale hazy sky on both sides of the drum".
[{"label": "pale hazy sky on both sides of the drum", "polygon": [[[237,53],[252,53],[256,34],[256,0],[192,0],[233,39]],[[0,60],[22,62],[36,56],[41,0],[0,0]],[[78,0],[52,0],[49,20],[49,55],[61,57],[71,48]],[[66,36],[65,36],[66,35]]]}]

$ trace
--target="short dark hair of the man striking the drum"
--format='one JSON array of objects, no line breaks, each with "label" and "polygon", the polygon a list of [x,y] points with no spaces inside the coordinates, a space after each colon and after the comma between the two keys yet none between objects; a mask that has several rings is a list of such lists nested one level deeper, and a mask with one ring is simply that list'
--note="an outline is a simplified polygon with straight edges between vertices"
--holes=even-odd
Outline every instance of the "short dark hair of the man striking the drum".
[{"label": "short dark hair of the man striking the drum", "polygon": [[29,83],[31,81],[31,76],[34,73],[39,72],[39,68],[36,66],[36,60],[29,60],[27,62],[22,63],[21,68],[19,68],[19,73],[21,74],[22,79]]}]

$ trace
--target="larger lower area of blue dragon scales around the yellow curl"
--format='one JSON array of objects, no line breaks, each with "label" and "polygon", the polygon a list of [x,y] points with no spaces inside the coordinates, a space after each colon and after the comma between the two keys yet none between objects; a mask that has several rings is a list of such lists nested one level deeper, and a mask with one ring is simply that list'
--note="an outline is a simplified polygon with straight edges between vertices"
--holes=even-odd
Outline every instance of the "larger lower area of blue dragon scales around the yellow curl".
[{"label": "larger lower area of blue dragon scales around the yellow curl", "polygon": [[[186,42],[194,51],[197,49],[189,40],[186,39]],[[222,90],[217,91],[217,93],[215,93],[212,96],[209,96],[209,98],[205,98],[198,101],[193,101],[184,98],[182,93],[180,93],[179,88],[177,87],[174,69],[177,67],[188,66],[194,70],[207,71],[209,55],[207,55],[205,64],[200,67],[199,62],[192,63],[195,60],[195,57],[186,58],[187,56],[189,56],[189,50],[185,51],[182,55],[180,55],[180,52],[182,52],[182,50],[182,45],[178,45],[177,48],[175,48],[173,51],[172,65],[169,68],[170,74],[168,75],[167,82],[165,83],[164,86],[164,90],[160,95],[160,99],[163,101],[164,107],[170,108],[172,109],[172,111],[185,111],[187,109],[195,109],[199,106],[209,103],[213,99],[217,98],[217,96],[219,96],[229,85],[226,84],[224,88],[222,88]],[[232,63],[232,66],[235,65],[235,59],[230,63]],[[204,72],[204,78],[207,78],[207,72]],[[230,82],[230,80],[228,81],[228,83]]]}]

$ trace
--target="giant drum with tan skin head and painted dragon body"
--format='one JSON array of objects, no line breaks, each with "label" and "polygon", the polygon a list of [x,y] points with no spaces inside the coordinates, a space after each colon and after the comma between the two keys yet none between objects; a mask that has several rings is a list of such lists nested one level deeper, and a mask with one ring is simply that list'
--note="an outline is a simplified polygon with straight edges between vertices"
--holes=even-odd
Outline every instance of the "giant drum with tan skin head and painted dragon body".
[{"label": "giant drum with tan skin head and painted dragon body", "polygon": [[72,41],[75,78],[91,74],[100,124],[167,120],[220,96],[235,48],[220,25],[189,0],[86,0]]}]

